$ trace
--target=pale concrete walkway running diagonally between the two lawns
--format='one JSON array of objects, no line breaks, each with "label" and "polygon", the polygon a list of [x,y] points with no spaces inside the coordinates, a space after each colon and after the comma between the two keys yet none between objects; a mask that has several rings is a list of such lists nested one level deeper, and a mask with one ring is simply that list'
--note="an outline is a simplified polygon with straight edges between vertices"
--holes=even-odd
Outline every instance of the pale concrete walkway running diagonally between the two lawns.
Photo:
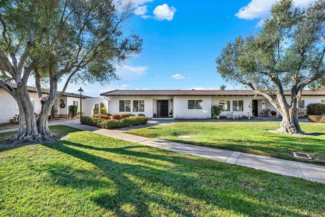
[{"label": "pale concrete walkway running diagonally between the two lawns", "polygon": [[[325,183],[325,167],[313,164],[288,161],[276,158],[258,156],[256,154],[242,153],[237,151],[229,151],[217,148],[202,147],[178,142],[170,142],[159,139],[150,139],[147,137],[126,134],[127,130],[135,128],[143,128],[154,126],[157,124],[169,123],[169,121],[149,121],[147,125],[137,126],[134,128],[124,128],[119,130],[106,130],[95,128],[87,125],[81,125],[79,119],[67,120],[53,123],[53,125],[66,125],[80,130],[90,131],[93,133],[121,139],[129,142],[148,145],[151,147],[171,150],[179,153],[191,154],[201,158],[212,159],[220,162],[242,165],[254,169],[265,170],[281,175],[300,177],[311,181],[319,181]],[[13,131],[11,129],[9,131]],[[0,133],[5,131],[0,131]]]}]

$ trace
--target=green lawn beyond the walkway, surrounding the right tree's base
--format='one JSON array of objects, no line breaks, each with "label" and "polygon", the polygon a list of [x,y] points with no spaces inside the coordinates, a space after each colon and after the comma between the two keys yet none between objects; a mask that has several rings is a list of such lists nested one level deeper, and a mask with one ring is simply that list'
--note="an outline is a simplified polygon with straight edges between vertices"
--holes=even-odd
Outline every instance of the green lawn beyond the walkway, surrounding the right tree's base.
[{"label": "green lawn beyond the walkway, surrounding the right tree's base", "polygon": [[297,159],[291,155],[293,151],[305,152],[314,160],[302,160],[303,162],[325,165],[324,124],[301,123],[302,130],[315,136],[291,136],[270,132],[278,128],[279,122],[176,122],[127,133],[294,161]]}]

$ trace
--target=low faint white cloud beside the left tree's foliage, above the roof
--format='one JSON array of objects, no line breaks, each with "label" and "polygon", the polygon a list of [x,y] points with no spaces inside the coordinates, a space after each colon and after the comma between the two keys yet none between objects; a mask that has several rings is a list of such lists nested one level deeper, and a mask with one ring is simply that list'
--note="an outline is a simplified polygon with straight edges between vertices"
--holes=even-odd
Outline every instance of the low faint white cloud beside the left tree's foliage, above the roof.
[{"label": "low faint white cloud beside the left tree's foliage, above the roof", "polygon": [[135,67],[135,66],[124,65],[116,71],[116,75],[121,80],[132,81],[142,77],[144,74],[146,74],[147,70],[148,67],[146,66]]}]

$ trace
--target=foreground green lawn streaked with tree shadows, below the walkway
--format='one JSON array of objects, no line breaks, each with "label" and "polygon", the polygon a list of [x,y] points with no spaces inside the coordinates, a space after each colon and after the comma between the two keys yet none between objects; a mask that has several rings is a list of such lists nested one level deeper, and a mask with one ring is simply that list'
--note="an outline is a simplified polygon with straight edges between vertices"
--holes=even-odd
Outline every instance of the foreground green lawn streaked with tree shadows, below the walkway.
[{"label": "foreground green lawn streaked with tree shadows, below the walkway", "polygon": [[56,128],[70,133],[0,150],[0,216],[325,214],[323,183]]}]

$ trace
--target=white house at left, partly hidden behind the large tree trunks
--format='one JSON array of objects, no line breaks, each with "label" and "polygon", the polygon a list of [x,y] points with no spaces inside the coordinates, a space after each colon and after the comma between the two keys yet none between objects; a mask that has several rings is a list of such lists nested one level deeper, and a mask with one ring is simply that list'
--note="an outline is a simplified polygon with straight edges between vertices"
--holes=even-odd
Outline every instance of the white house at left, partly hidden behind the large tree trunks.
[{"label": "white house at left, partly hidden behind the large tree trunks", "polygon": [[[8,83],[13,88],[16,88],[16,84]],[[41,103],[38,100],[36,87],[28,86],[29,97],[32,105],[34,106],[35,113],[40,113]],[[77,90],[76,90],[77,92]],[[42,89],[43,96],[47,96],[48,89]],[[60,93],[59,91],[57,92]],[[92,116],[93,108],[99,107],[100,103],[104,103],[106,108],[108,107],[108,101],[104,98],[93,98],[82,95],[82,112],[86,116]],[[57,97],[54,103],[54,108],[57,110],[55,117],[66,117],[69,114],[69,106],[78,106],[78,112],[80,112],[80,95],[69,92],[64,92],[60,97]],[[19,108],[16,100],[8,94],[3,88],[0,88],[0,123],[7,123],[10,119],[13,119],[15,115],[19,114]]]}]

